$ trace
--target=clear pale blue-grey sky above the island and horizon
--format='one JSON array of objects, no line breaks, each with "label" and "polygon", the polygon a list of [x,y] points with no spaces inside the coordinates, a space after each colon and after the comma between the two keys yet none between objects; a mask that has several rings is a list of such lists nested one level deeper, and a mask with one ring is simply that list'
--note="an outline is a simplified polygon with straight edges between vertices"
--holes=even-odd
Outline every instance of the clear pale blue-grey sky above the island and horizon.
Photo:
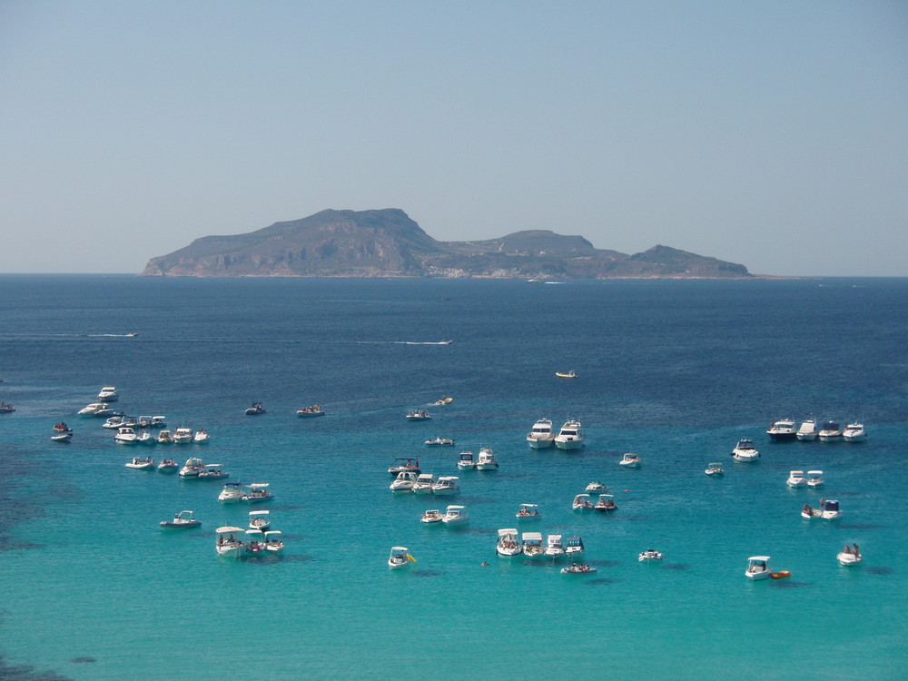
[{"label": "clear pale blue-grey sky above the island and horizon", "polygon": [[908,2],[0,0],[0,272],[400,208],[908,276]]}]

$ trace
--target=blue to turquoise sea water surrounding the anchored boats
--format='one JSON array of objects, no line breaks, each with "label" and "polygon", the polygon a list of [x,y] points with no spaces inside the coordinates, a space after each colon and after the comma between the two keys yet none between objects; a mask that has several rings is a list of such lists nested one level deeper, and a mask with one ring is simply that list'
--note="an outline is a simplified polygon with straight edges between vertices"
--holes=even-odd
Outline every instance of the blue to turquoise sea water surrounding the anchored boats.
[{"label": "blue to turquoise sea water surrounding the anchored boats", "polygon": [[[0,285],[0,678],[908,677],[908,279]],[[118,410],[211,441],[114,443],[76,415],[107,385]],[[326,415],[296,416],[313,403]],[[868,438],[765,433],[809,415]],[[585,448],[529,449],[543,417],[578,419]],[[60,420],[69,443],[50,439]],[[439,436],[456,446],[425,445]],[[744,438],[759,462],[731,458]],[[498,470],[456,469],[482,447]],[[124,467],[148,454],[269,483],[252,509],[284,555],[219,557],[216,528],[251,508]],[[460,494],[391,493],[400,458]],[[792,469],[825,486],[788,488]],[[594,480],[617,512],[571,510]],[[843,517],[801,518],[820,498]],[[542,518],[520,523],[522,503]],[[448,504],[469,525],[419,521]],[[202,527],[160,528],[183,509]],[[597,572],[499,558],[498,528],[580,536]],[[854,543],[863,564],[839,566]],[[410,568],[388,568],[393,546]],[[639,562],[646,548],[665,558]],[[791,576],[745,578],[755,555]]]}]

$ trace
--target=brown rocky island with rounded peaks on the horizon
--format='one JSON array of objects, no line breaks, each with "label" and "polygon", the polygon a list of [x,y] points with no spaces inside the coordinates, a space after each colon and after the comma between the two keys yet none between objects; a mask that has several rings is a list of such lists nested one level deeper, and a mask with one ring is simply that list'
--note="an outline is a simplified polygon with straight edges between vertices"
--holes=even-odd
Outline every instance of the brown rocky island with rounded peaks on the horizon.
[{"label": "brown rocky island with rounded peaks on the horizon", "polygon": [[388,208],[317,212],[256,232],[206,236],[152,258],[143,276],[735,279],[744,265],[667,246],[628,255],[548,230],[438,242]]}]

